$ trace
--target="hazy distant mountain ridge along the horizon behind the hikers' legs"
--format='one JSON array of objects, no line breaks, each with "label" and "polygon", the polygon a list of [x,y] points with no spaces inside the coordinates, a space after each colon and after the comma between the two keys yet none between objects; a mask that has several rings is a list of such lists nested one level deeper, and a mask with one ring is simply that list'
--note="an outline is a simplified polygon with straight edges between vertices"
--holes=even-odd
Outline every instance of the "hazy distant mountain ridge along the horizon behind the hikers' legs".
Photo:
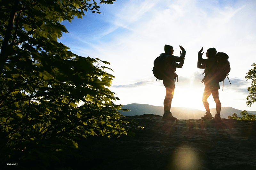
[{"label": "hazy distant mountain ridge along the horizon behind the hikers' legs", "polygon": [[[122,109],[128,109],[130,111],[120,111],[124,116],[134,116],[134,115],[144,115],[144,114],[154,114],[163,116],[164,107],[163,106],[152,106],[149,104],[138,104],[132,103],[127,104],[121,107]],[[210,109],[212,116],[216,114],[216,108]],[[240,116],[240,112],[243,110],[238,110],[232,107],[222,107],[220,116],[221,118],[228,118],[228,115],[232,116],[233,113],[236,113]],[[185,107],[172,107],[172,115],[178,119],[201,119],[202,116],[206,113],[203,110],[191,109]],[[256,114],[256,111],[248,111],[249,114]]]}]

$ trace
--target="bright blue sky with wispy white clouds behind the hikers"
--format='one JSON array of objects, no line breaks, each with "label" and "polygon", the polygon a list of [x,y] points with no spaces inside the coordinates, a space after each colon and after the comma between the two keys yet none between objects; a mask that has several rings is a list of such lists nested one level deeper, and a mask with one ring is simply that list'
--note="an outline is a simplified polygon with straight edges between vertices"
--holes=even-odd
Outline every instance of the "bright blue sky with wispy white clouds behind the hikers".
[{"label": "bright blue sky with wispy white clouds behind the hikers", "polygon": [[[98,1],[96,1],[98,2]],[[252,68],[256,52],[256,1],[201,0],[116,0],[100,4],[101,14],[85,13],[83,19],[64,22],[69,33],[59,40],[73,53],[109,61],[115,76],[110,90],[116,104],[146,103],[163,106],[165,88],[152,73],[153,61],[164,52],[164,45],[179,45],[187,51],[182,68],[177,68],[172,107],[205,110],[202,103],[203,69],[197,68],[197,53],[204,46],[227,53],[231,65],[224,91],[219,90],[222,107],[248,108],[246,73]],[[205,53],[203,58],[206,58]],[[215,107],[212,96],[210,108]],[[231,113],[232,114],[232,113]]]}]

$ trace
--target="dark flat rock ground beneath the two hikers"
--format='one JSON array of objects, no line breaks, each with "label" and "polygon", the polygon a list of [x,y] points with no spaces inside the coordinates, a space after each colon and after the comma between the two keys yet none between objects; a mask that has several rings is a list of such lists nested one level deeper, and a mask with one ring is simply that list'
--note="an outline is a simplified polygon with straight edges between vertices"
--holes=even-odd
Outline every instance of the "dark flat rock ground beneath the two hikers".
[{"label": "dark flat rock ground beneath the two hikers", "polygon": [[92,137],[81,142],[86,169],[256,169],[256,121],[169,121],[151,114],[128,118],[144,126],[134,130],[134,137]]}]

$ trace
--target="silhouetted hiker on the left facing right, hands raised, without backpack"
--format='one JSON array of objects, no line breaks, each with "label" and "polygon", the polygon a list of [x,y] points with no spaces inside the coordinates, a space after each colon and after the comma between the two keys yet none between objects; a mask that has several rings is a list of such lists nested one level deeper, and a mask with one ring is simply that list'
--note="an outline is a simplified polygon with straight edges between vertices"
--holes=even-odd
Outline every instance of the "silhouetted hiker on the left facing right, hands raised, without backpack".
[{"label": "silhouetted hiker on the left facing right, hands raised, without backpack", "polygon": [[[172,116],[171,112],[171,105],[172,105],[172,98],[174,94],[175,84],[174,80],[178,76],[175,73],[176,67],[181,68],[184,64],[184,58],[186,55],[185,49],[180,46],[180,49],[182,53],[180,52],[180,57],[176,57],[173,54],[174,50],[172,46],[165,45],[164,46],[164,52],[160,56],[165,56],[164,59],[164,70],[165,70],[165,76],[163,78],[163,83],[166,91],[165,99],[164,99],[164,115],[163,119],[169,119],[169,120],[176,120],[176,117]],[[179,64],[176,62],[180,62]]]}]

